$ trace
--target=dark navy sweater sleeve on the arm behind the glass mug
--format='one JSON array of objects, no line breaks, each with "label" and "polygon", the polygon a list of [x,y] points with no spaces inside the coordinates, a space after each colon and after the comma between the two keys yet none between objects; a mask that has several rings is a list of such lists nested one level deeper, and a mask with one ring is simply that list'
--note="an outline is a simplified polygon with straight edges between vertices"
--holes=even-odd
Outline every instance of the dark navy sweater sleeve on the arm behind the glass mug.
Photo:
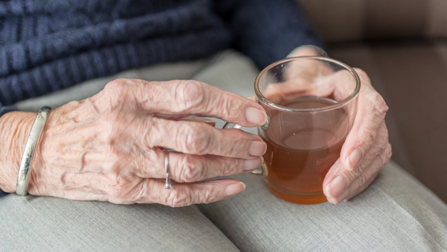
[{"label": "dark navy sweater sleeve on the arm behind the glass mug", "polygon": [[216,7],[235,36],[234,47],[260,68],[295,47],[323,47],[294,0],[217,0]]}]

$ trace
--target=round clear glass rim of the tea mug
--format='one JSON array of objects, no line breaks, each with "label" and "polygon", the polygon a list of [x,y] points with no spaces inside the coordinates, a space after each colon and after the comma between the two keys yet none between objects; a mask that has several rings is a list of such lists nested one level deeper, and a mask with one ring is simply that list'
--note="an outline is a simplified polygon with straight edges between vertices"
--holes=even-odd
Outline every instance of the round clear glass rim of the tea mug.
[{"label": "round clear glass rim of the tea mug", "polygon": [[[270,101],[269,99],[267,99],[261,93],[261,91],[259,90],[259,80],[260,80],[261,76],[263,76],[267,71],[269,71],[270,69],[272,69],[273,67],[275,67],[275,66],[277,66],[279,64],[283,64],[285,62],[298,60],[298,59],[321,60],[321,61],[325,61],[325,62],[335,63],[337,65],[340,65],[340,66],[344,67],[354,77],[354,80],[356,82],[356,87],[355,87],[354,91],[348,97],[344,98],[342,101],[334,103],[334,104],[331,104],[331,105],[328,105],[328,106],[325,106],[325,107],[321,107],[321,108],[288,108],[288,107],[284,107],[284,106],[278,105],[278,104]],[[283,110],[283,111],[296,111],[296,112],[312,111],[312,112],[316,112],[316,111],[327,111],[327,110],[331,110],[331,109],[334,109],[334,108],[340,108],[340,107],[344,106],[346,103],[348,103],[354,97],[357,96],[357,94],[360,91],[360,86],[361,86],[361,81],[360,81],[360,77],[357,74],[357,72],[355,72],[355,70],[353,68],[351,68],[350,66],[344,64],[341,61],[338,61],[338,60],[335,60],[335,59],[332,59],[332,58],[328,58],[328,57],[322,57],[322,56],[296,56],[296,57],[288,57],[288,58],[284,58],[284,59],[275,61],[272,64],[270,64],[267,67],[265,67],[261,72],[259,72],[258,76],[256,76],[256,79],[255,79],[255,94],[264,103],[272,106],[273,108],[277,108],[277,109],[280,109],[280,110]]]}]

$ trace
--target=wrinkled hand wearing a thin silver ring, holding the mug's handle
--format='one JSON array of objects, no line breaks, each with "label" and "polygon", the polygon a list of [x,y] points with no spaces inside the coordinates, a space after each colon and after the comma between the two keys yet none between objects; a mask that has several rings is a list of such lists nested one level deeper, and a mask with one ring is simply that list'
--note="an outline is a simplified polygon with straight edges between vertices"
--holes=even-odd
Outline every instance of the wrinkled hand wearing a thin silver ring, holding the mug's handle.
[{"label": "wrinkled hand wearing a thin silver ring, holding the mug's handle", "polygon": [[[19,112],[9,114],[14,113]],[[238,180],[202,180],[254,170],[262,162],[266,144],[239,129],[219,130],[182,120],[190,114],[243,126],[266,121],[257,103],[205,83],[117,79],[95,96],[52,111],[37,148],[28,192],[173,207],[241,193],[245,185]],[[34,115],[28,115],[24,121],[30,126]],[[3,190],[15,190],[23,146],[9,165],[9,174],[16,177],[9,178],[13,181]],[[164,188],[163,149],[178,151],[169,152],[171,178],[176,181],[172,189]]]}]

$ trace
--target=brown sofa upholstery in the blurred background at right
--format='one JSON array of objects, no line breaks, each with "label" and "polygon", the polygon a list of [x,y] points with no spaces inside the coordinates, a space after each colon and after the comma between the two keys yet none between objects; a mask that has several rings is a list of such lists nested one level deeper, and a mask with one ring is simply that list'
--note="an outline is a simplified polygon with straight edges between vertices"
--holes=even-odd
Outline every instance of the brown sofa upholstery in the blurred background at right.
[{"label": "brown sofa upholstery in the blurred background at right", "polygon": [[330,56],[388,103],[392,159],[447,202],[447,0],[300,2]]}]

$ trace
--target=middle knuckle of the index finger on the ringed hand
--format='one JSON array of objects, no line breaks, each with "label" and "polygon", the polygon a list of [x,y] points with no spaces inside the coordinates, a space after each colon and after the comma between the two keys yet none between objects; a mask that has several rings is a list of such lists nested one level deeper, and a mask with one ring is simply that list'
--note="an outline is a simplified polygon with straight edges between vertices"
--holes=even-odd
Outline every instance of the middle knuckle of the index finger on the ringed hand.
[{"label": "middle knuckle of the index finger on the ringed hand", "polygon": [[181,110],[188,110],[202,105],[206,100],[206,84],[184,80],[174,86],[174,99]]}]

